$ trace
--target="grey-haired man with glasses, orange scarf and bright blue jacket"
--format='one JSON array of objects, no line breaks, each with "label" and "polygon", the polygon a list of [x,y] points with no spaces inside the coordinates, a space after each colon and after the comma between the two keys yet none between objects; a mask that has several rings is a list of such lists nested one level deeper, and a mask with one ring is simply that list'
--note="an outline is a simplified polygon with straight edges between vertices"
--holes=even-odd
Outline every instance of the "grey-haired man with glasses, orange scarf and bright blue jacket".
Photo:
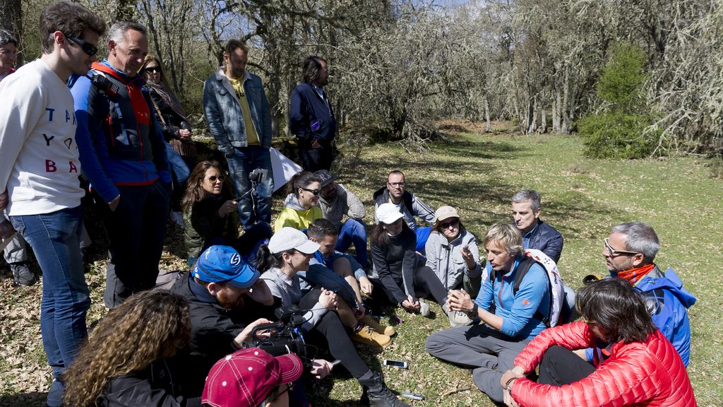
[{"label": "grey-haired man with glasses, orange scarf and bright blue jacket", "polygon": [[[683,288],[683,282],[672,268],[662,272],[654,264],[659,249],[660,240],[650,225],[629,222],[612,227],[609,237],[604,239],[602,256],[610,277],[628,280],[643,295],[653,323],[688,366],[688,308],[696,303],[696,297]],[[593,359],[592,349],[586,351],[586,358]]]}]

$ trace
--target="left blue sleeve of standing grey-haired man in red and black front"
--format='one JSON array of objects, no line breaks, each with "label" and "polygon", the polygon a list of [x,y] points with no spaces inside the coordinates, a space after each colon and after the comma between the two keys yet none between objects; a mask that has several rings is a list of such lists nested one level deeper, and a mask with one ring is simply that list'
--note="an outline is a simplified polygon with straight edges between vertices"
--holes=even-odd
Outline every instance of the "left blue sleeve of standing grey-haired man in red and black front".
[{"label": "left blue sleeve of standing grey-haired man in red and black front", "polygon": [[106,140],[100,128],[100,122],[108,114],[108,108],[103,109],[103,106],[108,106],[106,97],[99,93],[85,76],[79,77],[70,91],[74,100],[77,121],[75,142],[78,145],[82,172],[103,201],[111,202],[120,195],[120,191],[108,177],[98,158],[99,154],[107,154]]}]

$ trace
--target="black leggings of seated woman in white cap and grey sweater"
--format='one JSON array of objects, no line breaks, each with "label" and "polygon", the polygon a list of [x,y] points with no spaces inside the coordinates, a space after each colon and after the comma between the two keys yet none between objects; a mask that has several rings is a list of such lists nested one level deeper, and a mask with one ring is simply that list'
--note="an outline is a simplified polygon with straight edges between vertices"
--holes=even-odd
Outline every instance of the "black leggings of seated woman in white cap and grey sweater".
[{"label": "black leggings of seated woman in white cap and grey sweater", "polygon": [[[299,308],[311,309],[319,301],[320,290],[311,290],[299,301]],[[309,343],[329,349],[331,356],[341,361],[342,366],[356,379],[369,372],[369,366],[356,353],[348,333],[335,311],[327,311],[321,321],[307,335]]]}]

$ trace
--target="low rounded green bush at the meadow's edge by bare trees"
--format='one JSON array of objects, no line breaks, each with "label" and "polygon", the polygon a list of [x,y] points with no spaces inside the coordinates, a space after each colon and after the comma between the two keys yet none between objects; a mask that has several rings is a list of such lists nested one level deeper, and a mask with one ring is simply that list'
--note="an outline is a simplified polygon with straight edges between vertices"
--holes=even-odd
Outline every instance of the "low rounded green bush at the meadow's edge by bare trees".
[{"label": "low rounded green bush at the meadow's edge by bare trees", "polygon": [[578,121],[578,131],[585,136],[586,156],[638,159],[652,154],[658,143],[658,131],[643,135],[650,122],[650,117],[641,114],[590,114]]}]

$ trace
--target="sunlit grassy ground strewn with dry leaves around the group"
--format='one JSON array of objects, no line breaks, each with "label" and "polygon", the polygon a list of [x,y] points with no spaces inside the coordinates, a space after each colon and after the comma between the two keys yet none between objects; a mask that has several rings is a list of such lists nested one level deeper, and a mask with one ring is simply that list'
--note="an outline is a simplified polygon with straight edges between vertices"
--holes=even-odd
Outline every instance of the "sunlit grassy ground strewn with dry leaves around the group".
[{"label": "sunlit grassy ground strewn with dry leaves around the group", "polygon": [[[542,219],[565,238],[562,276],[574,288],[581,277],[605,272],[602,239],[609,227],[641,220],[652,225],[662,243],[660,267],[673,267],[698,297],[690,310],[693,331],[688,374],[699,406],[723,406],[723,180],[711,178],[706,161],[693,158],[637,161],[591,160],[582,156],[574,136],[484,135],[469,125],[451,143],[435,143],[423,154],[408,154],[395,144],[342,147],[338,182],[367,206],[373,222],[372,193],[385,185],[390,169],[406,173],[408,190],[437,207],[455,206],[466,227],[481,237],[489,225],[510,219],[510,197],[522,188],[542,194]],[[281,199],[275,200],[280,209]],[[91,236],[102,246],[98,225]],[[171,229],[163,267],[179,269],[181,234]],[[93,291],[90,320],[103,314],[104,252],[91,253],[87,278]],[[41,406],[49,385],[40,343],[40,285],[15,288],[0,267],[0,406]],[[493,406],[476,389],[468,370],[444,364],[424,352],[424,339],[448,327],[440,308],[436,319],[398,311],[404,320],[394,344],[382,353],[360,348],[373,369],[384,369],[398,392],[425,396],[412,406]],[[408,361],[409,369],[382,368],[382,358]],[[348,374],[310,383],[315,406],[355,406],[361,389]]]}]

